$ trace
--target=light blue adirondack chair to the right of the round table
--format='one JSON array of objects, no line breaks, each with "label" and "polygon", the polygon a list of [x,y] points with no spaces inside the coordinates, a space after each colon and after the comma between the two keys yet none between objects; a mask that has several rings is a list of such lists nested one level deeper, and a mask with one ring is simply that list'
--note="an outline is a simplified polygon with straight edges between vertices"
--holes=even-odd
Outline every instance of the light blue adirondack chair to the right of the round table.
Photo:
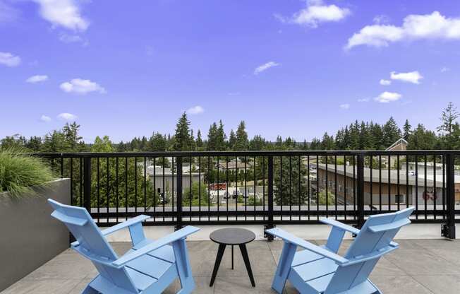
[{"label": "light blue adirondack chair to the right of the round table", "polygon": [[[322,219],[332,225],[326,245],[317,246],[277,228],[267,233],[284,240],[282,255],[272,288],[282,293],[286,280],[302,294],[382,293],[368,278],[382,255],[398,248],[392,242],[411,221],[413,207],[396,213],[370,216],[361,230],[336,220]],[[337,255],[345,232],[356,234],[344,257]],[[304,250],[297,251],[296,247]]]}]

